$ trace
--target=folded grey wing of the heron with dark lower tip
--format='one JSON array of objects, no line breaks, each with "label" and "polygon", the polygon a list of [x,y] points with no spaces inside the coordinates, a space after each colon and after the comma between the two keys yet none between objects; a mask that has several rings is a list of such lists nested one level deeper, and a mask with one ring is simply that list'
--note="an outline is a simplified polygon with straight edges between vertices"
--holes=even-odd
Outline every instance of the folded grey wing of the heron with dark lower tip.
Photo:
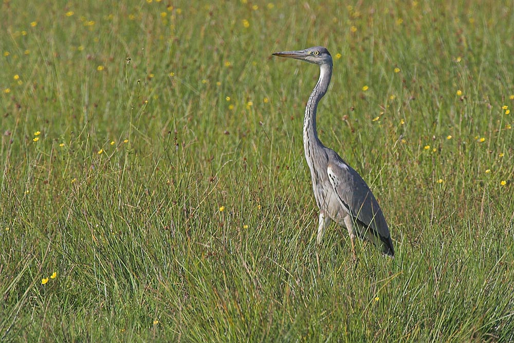
[{"label": "folded grey wing of the heron with dark lower tip", "polygon": [[371,230],[392,249],[386,219],[362,177],[335,152],[328,158],[327,174],[341,206],[350,212],[354,221]]}]

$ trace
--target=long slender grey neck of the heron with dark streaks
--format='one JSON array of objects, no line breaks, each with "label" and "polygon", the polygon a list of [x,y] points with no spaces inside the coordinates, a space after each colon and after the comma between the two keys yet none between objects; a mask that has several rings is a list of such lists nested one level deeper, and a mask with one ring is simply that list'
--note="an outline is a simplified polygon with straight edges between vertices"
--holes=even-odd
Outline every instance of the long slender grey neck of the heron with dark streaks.
[{"label": "long slender grey neck of the heron with dark streaks", "polygon": [[314,149],[315,146],[318,146],[317,143],[320,142],[318,132],[316,130],[316,112],[318,102],[325,95],[331,77],[332,64],[321,65],[320,78],[313,89],[313,93],[310,94],[307,106],[305,107],[305,118],[303,121],[303,142],[305,153],[310,149]]}]

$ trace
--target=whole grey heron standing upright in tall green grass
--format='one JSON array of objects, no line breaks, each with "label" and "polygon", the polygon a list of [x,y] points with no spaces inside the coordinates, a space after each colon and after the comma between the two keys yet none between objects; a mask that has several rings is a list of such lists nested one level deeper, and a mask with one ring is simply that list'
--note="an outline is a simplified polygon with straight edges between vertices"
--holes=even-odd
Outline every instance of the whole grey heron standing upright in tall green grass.
[{"label": "whole grey heron standing upright in tall green grass", "polygon": [[385,254],[394,256],[386,219],[370,188],[352,167],[318,138],[316,112],[332,77],[332,56],[321,46],[276,52],[273,55],[320,66],[320,77],[307,101],[303,122],[305,159],[310,169],[316,204],[320,208],[317,242],[321,242],[327,226],[334,221],[348,230],[352,252],[355,251],[354,240],[358,236],[371,241]]}]

